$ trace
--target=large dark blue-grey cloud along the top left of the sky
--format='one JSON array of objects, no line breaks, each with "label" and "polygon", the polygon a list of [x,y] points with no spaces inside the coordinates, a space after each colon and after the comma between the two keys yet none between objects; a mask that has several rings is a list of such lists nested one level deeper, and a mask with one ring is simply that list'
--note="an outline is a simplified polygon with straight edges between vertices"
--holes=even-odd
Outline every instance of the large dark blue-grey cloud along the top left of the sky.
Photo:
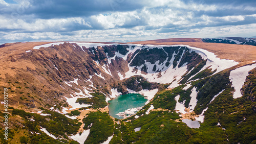
[{"label": "large dark blue-grey cloud along the top left of the sky", "polygon": [[91,16],[99,13],[114,11],[131,11],[142,8],[138,1],[126,0],[30,0],[19,4],[12,4],[3,9],[2,14],[17,12],[18,14],[34,15],[37,18],[67,18],[78,16]]}]

